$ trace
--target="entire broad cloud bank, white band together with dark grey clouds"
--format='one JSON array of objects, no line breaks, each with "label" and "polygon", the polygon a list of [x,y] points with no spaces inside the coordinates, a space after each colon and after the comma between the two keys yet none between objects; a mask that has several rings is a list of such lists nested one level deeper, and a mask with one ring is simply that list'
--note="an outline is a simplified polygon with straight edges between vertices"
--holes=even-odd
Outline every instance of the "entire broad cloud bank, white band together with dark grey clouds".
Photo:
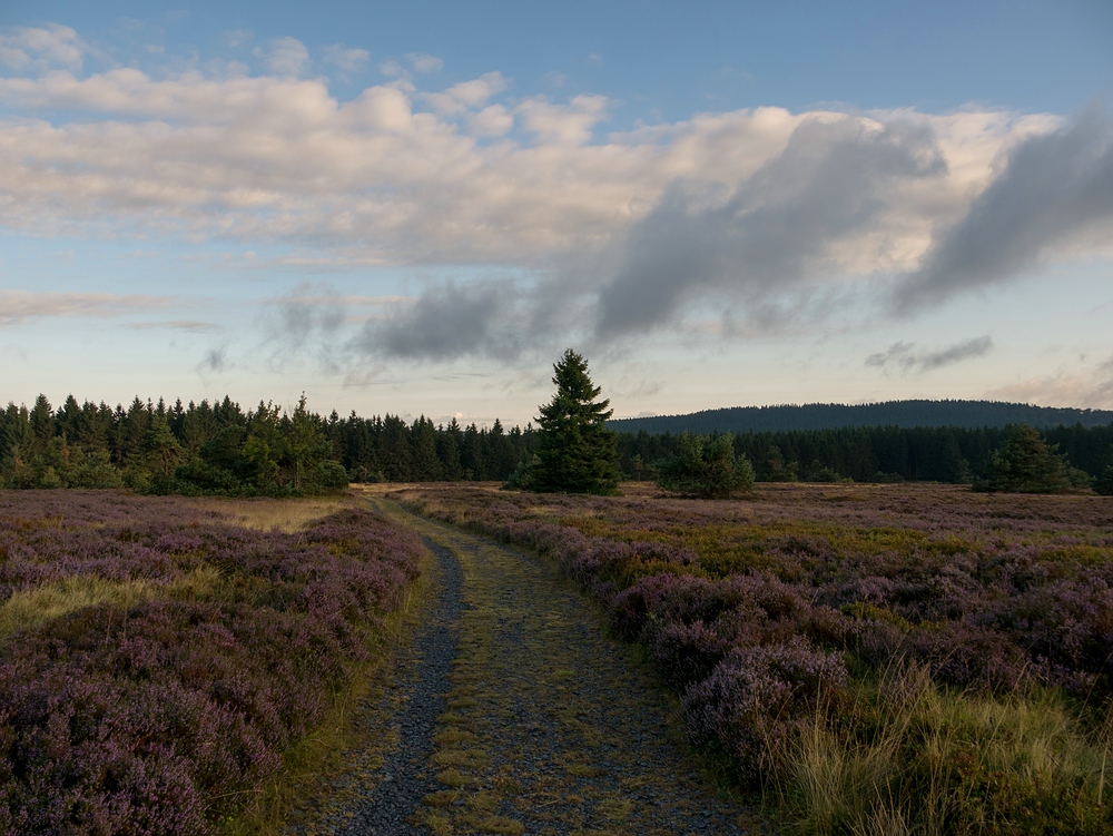
[{"label": "entire broad cloud bank, white band together with dark grey clouds", "polygon": [[390,80],[344,100],[309,77],[367,66],[343,46],[276,39],[257,75],[85,72],[87,56],[63,27],[0,35],[0,228],[434,271],[374,321],[343,302],[333,318],[306,308],[294,342],[505,360],[707,311],[733,323],[720,336],[746,333],[851,289],[908,315],[1113,240],[1113,129],[1097,110],[766,107],[607,132],[604,96],[523,96],[496,69],[437,85],[427,55],[384,61]]}]

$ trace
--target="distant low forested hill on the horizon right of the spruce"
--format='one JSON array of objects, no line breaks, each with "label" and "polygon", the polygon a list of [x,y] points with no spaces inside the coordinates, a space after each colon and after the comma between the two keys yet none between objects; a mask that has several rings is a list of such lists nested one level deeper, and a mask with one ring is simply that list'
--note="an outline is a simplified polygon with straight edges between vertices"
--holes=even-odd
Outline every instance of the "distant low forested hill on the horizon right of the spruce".
[{"label": "distant low forested hill on the horizon right of the spruce", "polygon": [[729,406],[688,415],[618,419],[608,426],[620,432],[691,433],[835,430],[846,426],[1105,426],[1113,411],[1033,406],[999,401],[886,401],[850,406],[809,403],[782,406]]}]

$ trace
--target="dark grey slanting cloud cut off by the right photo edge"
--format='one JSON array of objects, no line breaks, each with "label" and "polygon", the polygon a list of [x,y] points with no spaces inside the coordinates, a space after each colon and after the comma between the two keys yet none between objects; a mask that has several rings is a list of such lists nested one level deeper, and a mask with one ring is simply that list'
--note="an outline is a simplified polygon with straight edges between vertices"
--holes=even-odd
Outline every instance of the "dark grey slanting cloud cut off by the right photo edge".
[{"label": "dark grey slanting cloud cut off by the right photo edge", "polygon": [[1113,125],[1095,110],[1018,145],[966,216],[937,236],[896,308],[913,313],[1012,278],[1111,222]]}]

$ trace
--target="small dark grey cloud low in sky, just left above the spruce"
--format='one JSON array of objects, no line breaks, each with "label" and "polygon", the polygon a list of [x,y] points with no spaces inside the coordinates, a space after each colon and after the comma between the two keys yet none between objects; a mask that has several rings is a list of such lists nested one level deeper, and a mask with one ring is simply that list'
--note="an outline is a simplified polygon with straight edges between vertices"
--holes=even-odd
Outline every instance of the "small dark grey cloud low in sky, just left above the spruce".
[{"label": "small dark grey cloud low in sky, just left above the spruce", "polygon": [[446,283],[385,321],[368,322],[354,345],[383,357],[452,360],[467,355],[516,356],[529,335],[512,282]]}]

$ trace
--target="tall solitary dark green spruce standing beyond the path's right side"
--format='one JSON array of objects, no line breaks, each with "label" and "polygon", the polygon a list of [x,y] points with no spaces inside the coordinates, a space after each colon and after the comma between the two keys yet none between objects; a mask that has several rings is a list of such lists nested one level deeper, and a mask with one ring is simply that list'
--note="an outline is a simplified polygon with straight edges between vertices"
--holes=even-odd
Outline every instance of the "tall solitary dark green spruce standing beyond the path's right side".
[{"label": "tall solitary dark green spruce standing beyond the path's right side", "polygon": [[615,493],[618,435],[607,429],[610,401],[588,376],[588,361],[569,348],[553,366],[556,394],[541,406],[536,458],[524,486],[542,493]]}]

